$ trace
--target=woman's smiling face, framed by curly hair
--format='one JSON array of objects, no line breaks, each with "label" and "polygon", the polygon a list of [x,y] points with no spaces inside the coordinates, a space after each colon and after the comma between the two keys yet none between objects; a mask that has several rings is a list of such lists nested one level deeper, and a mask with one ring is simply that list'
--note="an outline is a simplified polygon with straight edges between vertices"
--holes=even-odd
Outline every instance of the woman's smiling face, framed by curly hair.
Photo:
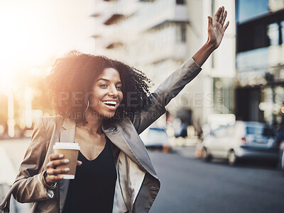
[{"label": "woman's smiling face, framed by curly hair", "polygon": [[94,80],[89,108],[100,116],[113,117],[124,98],[121,87],[119,71],[114,68],[104,69]]}]

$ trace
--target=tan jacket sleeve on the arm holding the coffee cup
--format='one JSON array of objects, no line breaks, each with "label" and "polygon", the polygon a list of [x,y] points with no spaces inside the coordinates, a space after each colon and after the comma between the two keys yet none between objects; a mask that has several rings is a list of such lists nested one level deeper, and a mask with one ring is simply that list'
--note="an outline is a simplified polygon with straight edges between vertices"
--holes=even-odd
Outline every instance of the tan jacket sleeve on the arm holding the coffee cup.
[{"label": "tan jacket sleeve on the arm holding the coffee cup", "polygon": [[47,147],[43,118],[40,118],[35,124],[31,144],[28,146],[15,180],[15,183],[21,181],[13,192],[13,197],[18,202],[37,202],[54,196],[53,191],[43,185],[43,173],[39,173],[45,160]]}]

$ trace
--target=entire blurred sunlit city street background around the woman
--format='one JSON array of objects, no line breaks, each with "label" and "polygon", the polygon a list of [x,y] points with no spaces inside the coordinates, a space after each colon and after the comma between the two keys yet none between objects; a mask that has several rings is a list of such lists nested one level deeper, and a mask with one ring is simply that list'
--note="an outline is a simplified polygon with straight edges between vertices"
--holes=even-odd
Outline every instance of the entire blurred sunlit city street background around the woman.
[{"label": "entire blurred sunlit city street background around the woman", "polygon": [[230,21],[222,45],[141,134],[162,181],[151,211],[283,212],[282,0],[0,0],[0,198],[35,122],[54,115],[44,79],[56,58],[119,59],[154,91],[207,41],[219,6]]}]

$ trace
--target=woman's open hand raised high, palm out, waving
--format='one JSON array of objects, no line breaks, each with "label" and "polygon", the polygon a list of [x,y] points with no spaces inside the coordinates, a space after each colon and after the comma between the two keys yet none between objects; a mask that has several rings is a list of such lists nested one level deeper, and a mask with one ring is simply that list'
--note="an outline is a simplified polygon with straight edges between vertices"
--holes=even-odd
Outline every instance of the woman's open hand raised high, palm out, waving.
[{"label": "woman's open hand raised high, palm out, waving", "polygon": [[214,18],[208,16],[208,41],[210,44],[213,45],[214,49],[219,47],[225,30],[229,25],[229,21],[226,22],[226,14],[224,6],[220,7],[218,11],[215,13]]}]

